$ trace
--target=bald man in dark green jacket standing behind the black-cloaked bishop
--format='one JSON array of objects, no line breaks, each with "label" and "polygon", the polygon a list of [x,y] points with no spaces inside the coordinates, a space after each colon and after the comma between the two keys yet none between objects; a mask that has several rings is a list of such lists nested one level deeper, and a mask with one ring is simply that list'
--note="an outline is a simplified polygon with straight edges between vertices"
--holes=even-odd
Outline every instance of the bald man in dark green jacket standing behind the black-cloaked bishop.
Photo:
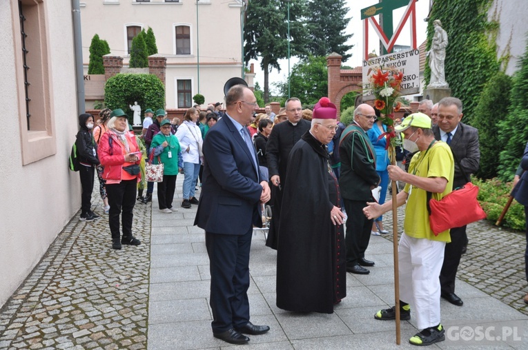
[{"label": "bald man in dark green jacket standing behind the black-cloaked bishop", "polygon": [[346,219],[346,271],[353,274],[370,274],[364,267],[374,266],[374,262],[365,259],[369,246],[373,219],[366,218],[363,208],[367,202],[373,202],[372,189],[380,183],[376,172],[376,154],[366,131],[374,125],[374,108],[366,103],[354,110],[354,120],[343,130],[339,154],[341,174],[339,185]]}]

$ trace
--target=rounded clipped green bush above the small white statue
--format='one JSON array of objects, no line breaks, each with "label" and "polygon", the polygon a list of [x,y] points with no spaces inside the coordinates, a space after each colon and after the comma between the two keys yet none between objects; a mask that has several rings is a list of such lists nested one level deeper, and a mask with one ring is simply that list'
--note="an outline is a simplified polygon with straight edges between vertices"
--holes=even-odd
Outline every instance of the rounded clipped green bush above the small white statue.
[{"label": "rounded clipped green bush above the small white statue", "polygon": [[137,101],[143,110],[158,110],[165,107],[165,87],[153,74],[117,74],[106,81],[104,86],[104,104],[110,110],[121,108],[132,123],[133,111],[129,105]]}]

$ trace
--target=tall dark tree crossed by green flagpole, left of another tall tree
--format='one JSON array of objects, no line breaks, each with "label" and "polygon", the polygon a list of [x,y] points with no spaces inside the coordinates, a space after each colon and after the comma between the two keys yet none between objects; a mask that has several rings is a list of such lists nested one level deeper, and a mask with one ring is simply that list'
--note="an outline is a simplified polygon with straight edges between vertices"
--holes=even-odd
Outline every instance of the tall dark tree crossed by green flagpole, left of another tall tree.
[{"label": "tall dark tree crossed by green flagpole, left of another tall tree", "polygon": [[[287,6],[290,6],[288,21]],[[253,0],[248,2],[244,26],[244,60],[261,59],[264,72],[264,101],[269,101],[268,73],[280,72],[279,59],[288,56],[288,25],[290,26],[290,56],[305,56],[308,32],[304,23],[306,0]]]}]

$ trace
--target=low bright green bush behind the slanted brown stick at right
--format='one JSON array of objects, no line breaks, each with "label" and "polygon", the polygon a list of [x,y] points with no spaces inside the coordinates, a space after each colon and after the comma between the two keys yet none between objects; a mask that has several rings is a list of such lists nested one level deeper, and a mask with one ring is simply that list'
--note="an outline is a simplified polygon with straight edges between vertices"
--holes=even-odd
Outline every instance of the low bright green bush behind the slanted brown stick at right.
[{"label": "low bright green bush behind the slanted brown stick at right", "polygon": [[[496,223],[509,199],[512,183],[503,183],[498,178],[489,180],[473,178],[472,182],[480,187],[477,199],[487,214],[487,220]],[[525,208],[514,200],[505,218],[502,219],[502,226],[524,231],[525,225]]]}]

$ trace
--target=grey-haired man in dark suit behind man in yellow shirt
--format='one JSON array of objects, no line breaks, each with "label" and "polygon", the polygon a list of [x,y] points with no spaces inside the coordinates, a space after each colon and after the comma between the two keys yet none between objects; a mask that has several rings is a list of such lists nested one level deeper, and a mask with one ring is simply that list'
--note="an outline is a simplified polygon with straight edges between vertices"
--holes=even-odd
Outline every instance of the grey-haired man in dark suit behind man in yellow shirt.
[{"label": "grey-haired man in dark suit behind man in yellow shirt", "polygon": [[[435,138],[451,146],[455,158],[453,189],[465,185],[471,174],[478,170],[480,163],[478,130],[460,123],[463,115],[462,102],[455,97],[445,97],[438,102],[438,125],[433,126]],[[462,247],[466,242],[465,226],[451,229],[451,243],[445,245],[444,265],[440,271],[440,295],[457,306],[464,304],[455,294],[455,278],[460,256],[462,256]]]}]

